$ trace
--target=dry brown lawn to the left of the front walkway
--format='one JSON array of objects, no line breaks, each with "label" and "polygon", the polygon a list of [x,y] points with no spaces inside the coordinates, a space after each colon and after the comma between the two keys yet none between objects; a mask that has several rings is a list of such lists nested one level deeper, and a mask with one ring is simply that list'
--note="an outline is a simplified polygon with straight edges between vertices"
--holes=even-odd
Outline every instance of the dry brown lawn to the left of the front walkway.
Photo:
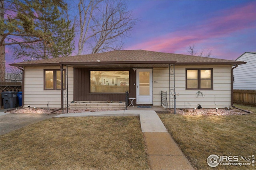
[{"label": "dry brown lawn to the left of the front walkway", "polygon": [[138,117],[52,118],[0,141],[1,170],[149,169]]}]

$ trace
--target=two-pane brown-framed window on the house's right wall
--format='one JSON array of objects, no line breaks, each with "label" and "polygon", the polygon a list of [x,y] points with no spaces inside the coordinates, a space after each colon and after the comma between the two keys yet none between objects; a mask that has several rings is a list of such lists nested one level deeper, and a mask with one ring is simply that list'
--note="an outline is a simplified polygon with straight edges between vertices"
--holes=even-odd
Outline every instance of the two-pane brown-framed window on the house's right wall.
[{"label": "two-pane brown-framed window on the house's right wall", "polygon": [[186,69],[187,90],[212,90],[212,68]]}]

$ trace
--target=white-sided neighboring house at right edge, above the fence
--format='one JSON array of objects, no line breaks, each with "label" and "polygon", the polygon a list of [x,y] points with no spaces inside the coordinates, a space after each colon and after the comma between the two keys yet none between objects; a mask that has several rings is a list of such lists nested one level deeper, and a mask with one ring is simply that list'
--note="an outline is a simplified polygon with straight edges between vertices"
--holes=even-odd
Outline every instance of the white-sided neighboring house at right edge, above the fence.
[{"label": "white-sided neighboring house at right edge, above the fence", "polygon": [[236,61],[244,61],[234,68],[234,89],[256,90],[256,52],[245,52]]}]

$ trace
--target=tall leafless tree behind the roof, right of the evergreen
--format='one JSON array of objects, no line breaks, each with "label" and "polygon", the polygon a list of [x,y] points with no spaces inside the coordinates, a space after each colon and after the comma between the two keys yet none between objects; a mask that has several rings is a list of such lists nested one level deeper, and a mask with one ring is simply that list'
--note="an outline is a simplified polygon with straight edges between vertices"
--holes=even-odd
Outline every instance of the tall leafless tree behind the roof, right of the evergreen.
[{"label": "tall leafless tree behind the roof, right of the evergreen", "polygon": [[125,1],[80,0],[78,55],[85,48],[90,53],[121,49],[136,20]]}]

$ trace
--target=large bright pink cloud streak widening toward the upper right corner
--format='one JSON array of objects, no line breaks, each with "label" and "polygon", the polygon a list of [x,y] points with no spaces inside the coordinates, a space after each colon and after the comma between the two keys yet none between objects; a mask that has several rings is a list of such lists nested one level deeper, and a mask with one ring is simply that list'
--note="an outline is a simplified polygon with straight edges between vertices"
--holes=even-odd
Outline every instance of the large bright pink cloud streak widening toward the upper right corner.
[{"label": "large bright pink cloud streak widening toward the upper right corner", "polygon": [[[246,6],[236,6],[218,12],[218,16],[205,20],[200,25],[187,25],[189,29],[167,33],[146,42],[134,44],[127,49],[144,49],[175,53],[186,51],[192,44],[217,43],[217,39],[228,37],[230,34],[255,27],[255,2]],[[208,47],[207,47],[208,48]],[[217,53],[217,52],[216,52]],[[220,53],[224,56],[224,53]]]}]

